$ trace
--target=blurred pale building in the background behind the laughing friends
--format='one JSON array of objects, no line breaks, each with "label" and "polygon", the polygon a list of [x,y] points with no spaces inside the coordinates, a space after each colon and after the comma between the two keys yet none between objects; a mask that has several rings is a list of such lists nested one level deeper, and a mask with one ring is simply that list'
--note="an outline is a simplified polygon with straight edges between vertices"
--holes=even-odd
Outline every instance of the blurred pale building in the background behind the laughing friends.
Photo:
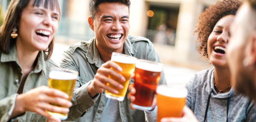
[{"label": "blurred pale building in the background behind the laughing friends", "polygon": [[[3,15],[10,1],[1,0]],[[166,65],[168,77],[185,77],[187,81],[198,70],[211,67],[199,55],[193,31],[197,16],[217,0],[130,1],[130,35],[143,36],[153,42]],[[57,63],[60,61],[59,55],[69,45],[94,37],[88,26],[89,0],[59,0],[59,4],[62,17],[52,56]]]}]

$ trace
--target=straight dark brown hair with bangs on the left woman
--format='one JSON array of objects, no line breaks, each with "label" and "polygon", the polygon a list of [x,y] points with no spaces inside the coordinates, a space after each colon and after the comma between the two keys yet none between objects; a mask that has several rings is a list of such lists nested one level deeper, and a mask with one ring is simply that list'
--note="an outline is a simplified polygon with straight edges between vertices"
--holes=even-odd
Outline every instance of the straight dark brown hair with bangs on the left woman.
[{"label": "straight dark brown hair with bangs on the left woman", "polygon": [[[11,37],[12,29],[16,27],[17,30],[19,30],[18,24],[21,19],[22,10],[29,4],[29,2],[31,2],[31,0],[12,0],[10,2],[0,33],[0,49],[3,53],[8,54],[10,52],[10,48],[15,45],[16,38],[13,39]],[[59,14],[61,14],[58,0],[34,0],[33,7],[39,7],[42,4],[44,4],[45,8],[48,9],[48,7],[50,7],[50,10],[56,9]],[[19,34],[19,31],[17,31],[17,33]],[[46,59],[50,59],[53,46],[54,38],[51,40],[48,48],[44,50],[44,52],[48,52]]]}]

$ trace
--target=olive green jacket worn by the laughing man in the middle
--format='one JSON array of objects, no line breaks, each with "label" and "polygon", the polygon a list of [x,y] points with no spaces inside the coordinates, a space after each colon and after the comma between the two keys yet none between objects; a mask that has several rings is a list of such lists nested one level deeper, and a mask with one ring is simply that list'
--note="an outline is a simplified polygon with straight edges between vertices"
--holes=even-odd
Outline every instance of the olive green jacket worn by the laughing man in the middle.
[{"label": "olive green jacket worn by the laughing man in the middle", "polygon": [[[124,43],[124,54],[131,55],[138,59],[147,59],[161,62],[152,43],[143,37],[128,36]],[[99,122],[106,102],[104,93],[92,99],[88,95],[87,87],[94,78],[97,69],[103,61],[100,59],[96,48],[96,39],[81,41],[73,44],[63,54],[64,58],[60,63],[61,68],[73,69],[79,72],[79,78],[74,90],[73,106],[69,112],[69,120],[81,122]],[[130,80],[130,83],[133,83]],[[164,73],[161,73],[159,84],[166,84]],[[145,122],[145,113],[141,110],[131,110],[130,101],[125,97],[119,102],[121,120],[123,122]],[[74,109],[75,108],[75,109]],[[110,113],[111,115],[111,113]],[[81,117],[81,118],[80,118]],[[79,119],[80,118],[80,119]]]}]

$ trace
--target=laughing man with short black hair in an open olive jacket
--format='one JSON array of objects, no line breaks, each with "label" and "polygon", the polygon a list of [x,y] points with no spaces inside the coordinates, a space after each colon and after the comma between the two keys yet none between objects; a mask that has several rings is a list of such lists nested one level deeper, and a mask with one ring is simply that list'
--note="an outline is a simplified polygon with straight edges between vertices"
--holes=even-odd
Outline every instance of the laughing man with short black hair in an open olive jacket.
[{"label": "laughing man with short black hair in an open olive jacket", "polygon": [[[152,43],[143,37],[130,36],[130,0],[91,0],[88,23],[95,37],[70,46],[64,52],[60,66],[79,72],[76,90],[73,95],[77,102],[73,103],[76,111],[69,112],[69,118],[77,121],[101,122],[143,122],[145,115],[153,114],[141,110],[130,109],[130,101],[108,99],[104,90],[117,92],[123,86],[108,78],[124,80],[110,67],[120,71],[120,67],[110,61],[112,52],[160,62]],[[166,84],[164,73],[161,73],[159,84]],[[109,83],[115,88],[106,85]],[[133,81],[130,81],[133,83]],[[74,114],[75,113],[75,114]],[[149,119],[150,120],[150,119]]]}]

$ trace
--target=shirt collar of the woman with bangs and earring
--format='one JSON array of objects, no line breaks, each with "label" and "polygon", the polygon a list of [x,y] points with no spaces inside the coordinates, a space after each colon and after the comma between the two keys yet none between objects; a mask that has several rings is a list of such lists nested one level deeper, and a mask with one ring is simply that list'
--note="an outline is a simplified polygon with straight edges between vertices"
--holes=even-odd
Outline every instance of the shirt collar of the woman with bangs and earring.
[{"label": "shirt collar of the woman with bangs and earring", "polygon": [[[11,47],[9,54],[3,53],[3,52],[1,54],[1,62],[12,62],[12,61],[15,61],[21,68],[19,64],[18,56],[17,56],[16,45]],[[43,72],[46,74],[45,53],[43,51],[39,51],[38,53],[37,65],[34,72],[39,73],[41,70],[43,70]]]}]

